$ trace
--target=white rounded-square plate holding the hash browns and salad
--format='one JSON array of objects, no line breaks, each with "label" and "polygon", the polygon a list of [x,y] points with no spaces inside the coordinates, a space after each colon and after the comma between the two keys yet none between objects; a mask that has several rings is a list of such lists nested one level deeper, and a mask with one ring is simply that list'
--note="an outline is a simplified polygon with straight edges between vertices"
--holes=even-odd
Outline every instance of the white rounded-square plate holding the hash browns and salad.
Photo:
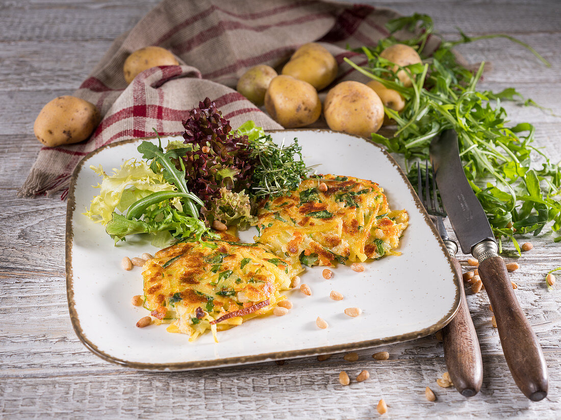
[{"label": "white rounded-square plate holding the hash browns and salad", "polygon": [[[188,370],[241,365],[267,360],[312,356],[375,347],[436,332],[456,314],[462,283],[422,204],[396,162],[381,147],[365,139],[328,130],[279,130],[275,142],[297,137],[307,165],[318,173],[356,176],[384,188],[392,209],[406,209],[410,225],[404,231],[400,256],[365,263],[362,273],[339,265],[329,280],[323,267],[306,268],[302,283],[312,295],[287,293],[294,307],[282,317],[256,318],[218,333],[219,343],[206,334],[193,343],[187,335],[166,332],[165,325],[136,328],[148,312],[131,305],[142,294],[141,269],[124,271],[123,256],[140,256],[156,249],[145,237],[117,246],[100,224],[82,215],[97,194],[99,178],[90,165],[106,171],[131,157],[140,158],[136,139],[114,143],[90,153],[74,171],[68,195],[66,276],[68,307],[76,334],[92,352],[107,361],[150,370]],[[163,139],[166,144],[169,138]],[[255,230],[242,232],[252,241]],[[333,301],[337,290],[342,301]],[[362,315],[344,315],[347,307]],[[316,327],[321,316],[329,328]]]}]

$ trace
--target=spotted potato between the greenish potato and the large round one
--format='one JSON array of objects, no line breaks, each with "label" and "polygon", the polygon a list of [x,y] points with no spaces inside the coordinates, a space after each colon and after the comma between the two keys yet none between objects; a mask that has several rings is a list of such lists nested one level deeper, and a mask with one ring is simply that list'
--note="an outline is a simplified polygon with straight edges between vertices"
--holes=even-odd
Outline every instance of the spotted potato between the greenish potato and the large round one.
[{"label": "spotted potato between the greenish potato and the large round one", "polygon": [[267,89],[265,109],[284,128],[304,127],[319,118],[321,101],[310,83],[281,74]]}]

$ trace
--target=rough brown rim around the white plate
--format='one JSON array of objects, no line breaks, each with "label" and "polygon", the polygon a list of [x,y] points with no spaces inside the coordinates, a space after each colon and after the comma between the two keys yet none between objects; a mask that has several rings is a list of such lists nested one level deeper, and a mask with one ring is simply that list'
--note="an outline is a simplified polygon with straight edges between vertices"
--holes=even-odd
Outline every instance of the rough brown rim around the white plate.
[{"label": "rough brown rim around the white plate", "polygon": [[[68,302],[68,312],[70,314],[70,320],[72,323],[72,328],[76,333],[77,337],[79,338],[80,342],[84,344],[84,346],[96,356],[102,358],[105,361],[114,363],[116,365],[135,368],[137,370],[151,370],[151,371],[185,371],[185,370],[196,370],[196,369],[207,369],[207,368],[215,368],[215,367],[222,367],[222,366],[236,366],[236,365],[245,365],[249,363],[259,363],[265,361],[274,361],[274,360],[284,360],[288,358],[299,358],[299,357],[309,357],[309,356],[316,356],[318,354],[328,354],[328,353],[340,353],[349,350],[357,350],[357,349],[365,349],[365,348],[372,348],[381,346],[382,344],[393,344],[393,343],[401,343],[421,337],[425,337],[426,335],[433,334],[436,331],[442,329],[445,325],[447,325],[456,312],[459,309],[462,293],[463,293],[463,281],[458,277],[456,269],[454,269],[454,265],[452,263],[452,259],[450,258],[447,248],[444,245],[444,242],[440,238],[438,231],[436,231],[436,227],[434,223],[430,220],[429,214],[427,214],[424,206],[422,205],[419,197],[415,193],[413,186],[407,179],[407,176],[404,174],[401,166],[398,165],[397,161],[390,155],[383,147],[379,144],[374,142],[368,141],[365,137],[356,136],[355,134],[337,132],[329,129],[321,129],[321,128],[300,128],[300,129],[275,129],[275,130],[265,130],[266,133],[276,133],[276,132],[327,132],[331,134],[345,134],[347,136],[355,137],[364,141],[371,146],[377,147],[385,157],[388,158],[389,162],[396,167],[399,175],[403,179],[404,183],[406,184],[407,188],[412,193],[413,200],[415,201],[415,205],[417,209],[420,211],[421,215],[427,226],[429,226],[431,232],[433,232],[433,236],[439,242],[440,248],[443,251],[444,256],[447,258],[450,272],[453,273],[454,277],[454,286],[456,287],[456,296],[454,297],[454,305],[452,309],[448,311],[446,315],[443,316],[440,320],[436,321],[433,325],[428,326],[427,328],[413,331],[410,333],[393,335],[390,337],[383,337],[383,338],[376,338],[372,340],[362,340],[360,342],[352,342],[352,343],[343,343],[337,344],[334,346],[322,346],[322,347],[312,347],[312,348],[305,348],[299,350],[291,350],[291,351],[284,351],[284,352],[272,352],[272,353],[261,353],[261,354],[251,354],[249,356],[236,356],[236,357],[225,357],[225,358],[218,358],[213,360],[198,360],[198,361],[190,361],[190,362],[174,362],[174,363],[145,363],[145,362],[134,362],[124,360],[122,358],[111,356],[111,354],[105,353],[101,351],[91,340],[86,337],[86,334],[82,330],[80,326],[80,320],[78,318],[78,314],[76,311],[76,302],[74,300],[74,291],[73,291],[73,271],[72,271],[72,245],[73,245],[73,230],[72,230],[72,221],[73,216],[76,211],[76,197],[75,197],[75,187],[78,180],[78,176],[81,170],[84,167],[84,163],[89,158],[95,156],[100,151],[105,150],[106,148],[112,148],[116,146],[121,146],[122,144],[127,143],[134,143],[139,142],[142,140],[148,139],[155,139],[156,137],[139,137],[133,139],[122,140],[119,142],[114,142],[110,144],[105,144],[102,147],[88,153],[88,155],[84,156],[80,162],[76,165],[75,169],[72,172],[72,176],[70,179],[70,186],[68,188],[68,201],[66,204],[66,237],[65,237],[65,265],[66,265],[66,297]],[[166,134],[165,137],[177,137],[181,136],[181,134]],[[163,137],[163,136],[160,136]]]}]

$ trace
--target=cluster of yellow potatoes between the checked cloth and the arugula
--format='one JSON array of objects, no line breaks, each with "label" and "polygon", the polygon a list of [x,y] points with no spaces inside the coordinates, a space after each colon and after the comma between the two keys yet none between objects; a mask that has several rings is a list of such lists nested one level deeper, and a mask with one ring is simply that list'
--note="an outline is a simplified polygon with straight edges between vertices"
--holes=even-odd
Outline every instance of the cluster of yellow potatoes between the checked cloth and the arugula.
[{"label": "cluster of yellow potatoes between the checked cloth and the arugula", "polygon": [[[397,66],[421,62],[419,54],[403,44],[389,46],[380,57],[396,64],[394,72]],[[255,105],[265,105],[269,115],[284,128],[305,127],[321,115],[318,91],[329,86],[337,73],[333,55],[320,44],[309,43],[296,50],[281,74],[264,65],[250,68],[238,81],[237,90]],[[401,70],[397,76],[404,86],[412,85],[411,74]],[[329,90],[323,114],[332,130],[370,137],[382,124],[391,123],[385,117],[384,106],[399,112],[405,101],[397,91],[378,81],[345,81]]]}]

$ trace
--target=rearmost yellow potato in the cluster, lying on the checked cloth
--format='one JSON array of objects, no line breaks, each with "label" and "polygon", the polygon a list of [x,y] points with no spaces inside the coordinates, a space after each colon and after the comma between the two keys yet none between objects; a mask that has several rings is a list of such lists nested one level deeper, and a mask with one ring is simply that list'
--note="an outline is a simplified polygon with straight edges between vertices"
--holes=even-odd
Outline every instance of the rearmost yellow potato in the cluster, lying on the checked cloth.
[{"label": "rearmost yellow potato in the cluster, lying on the checked cloth", "polygon": [[282,74],[308,82],[321,90],[333,82],[337,71],[335,57],[320,44],[309,43],[296,50],[284,65]]}]

